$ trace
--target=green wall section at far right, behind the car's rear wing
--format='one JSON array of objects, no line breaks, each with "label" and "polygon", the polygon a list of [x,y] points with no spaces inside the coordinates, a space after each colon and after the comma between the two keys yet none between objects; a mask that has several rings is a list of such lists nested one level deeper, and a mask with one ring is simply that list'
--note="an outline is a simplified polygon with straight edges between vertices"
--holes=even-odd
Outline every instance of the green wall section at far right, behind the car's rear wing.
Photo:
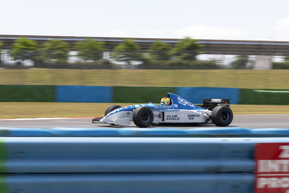
[{"label": "green wall section at far right, behind the car's rear wing", "polygon": [[289,105],[289,90],[241,89],[240,104]]}]

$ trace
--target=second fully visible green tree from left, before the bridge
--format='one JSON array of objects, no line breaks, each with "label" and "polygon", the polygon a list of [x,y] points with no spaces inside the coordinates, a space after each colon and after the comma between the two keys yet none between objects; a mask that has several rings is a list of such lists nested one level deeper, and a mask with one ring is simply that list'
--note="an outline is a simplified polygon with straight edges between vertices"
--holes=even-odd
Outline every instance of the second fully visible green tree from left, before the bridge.
[{"label": "second fully visible green tree from left, before the bridge", "polygon": [[51,39],[42,44],[42,55],[49,61],[67,61],[69,44],[63,40]]}]

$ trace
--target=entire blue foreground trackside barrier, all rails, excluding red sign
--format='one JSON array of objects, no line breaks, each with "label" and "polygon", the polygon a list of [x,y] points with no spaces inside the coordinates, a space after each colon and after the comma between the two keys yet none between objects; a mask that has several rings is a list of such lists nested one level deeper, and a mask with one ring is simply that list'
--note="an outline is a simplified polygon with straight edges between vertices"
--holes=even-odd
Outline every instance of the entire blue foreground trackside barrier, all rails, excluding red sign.
[{"label": "entire blue foreground trackside barrier, all rails, excluding red sign", "polygon": [[0,128],[0,135],[10,136],[0,137],[1,193],[253,193],[255,144],[289,142],[289,129],[277,128]]}]

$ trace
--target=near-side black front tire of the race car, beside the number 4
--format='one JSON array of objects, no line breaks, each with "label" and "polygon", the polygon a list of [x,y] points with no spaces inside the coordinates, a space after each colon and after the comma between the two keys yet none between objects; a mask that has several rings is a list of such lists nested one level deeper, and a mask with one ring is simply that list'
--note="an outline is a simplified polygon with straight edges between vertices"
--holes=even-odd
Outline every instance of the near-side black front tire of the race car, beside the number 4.
[{"label": "near-side black front tire of the race car, beside the number 4", "polygon": [[138,127],[148,127],[153,122],[153,111],[147,106],[140,106],[134,110],[132,120]]}]

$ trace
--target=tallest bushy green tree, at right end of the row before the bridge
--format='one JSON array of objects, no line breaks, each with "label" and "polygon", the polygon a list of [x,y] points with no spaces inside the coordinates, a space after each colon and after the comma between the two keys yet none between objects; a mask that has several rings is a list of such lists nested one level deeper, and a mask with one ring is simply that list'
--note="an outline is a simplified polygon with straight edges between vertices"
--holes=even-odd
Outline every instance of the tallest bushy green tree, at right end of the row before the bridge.
[{"label": "tallest bushy green tree, at right end of the row before the bridge", "polygon": [[196,56],[201,54],[198,51],[201,47],[197,40],[186,37],[175,45],[172,55],[180,60],[197,60]]}]

